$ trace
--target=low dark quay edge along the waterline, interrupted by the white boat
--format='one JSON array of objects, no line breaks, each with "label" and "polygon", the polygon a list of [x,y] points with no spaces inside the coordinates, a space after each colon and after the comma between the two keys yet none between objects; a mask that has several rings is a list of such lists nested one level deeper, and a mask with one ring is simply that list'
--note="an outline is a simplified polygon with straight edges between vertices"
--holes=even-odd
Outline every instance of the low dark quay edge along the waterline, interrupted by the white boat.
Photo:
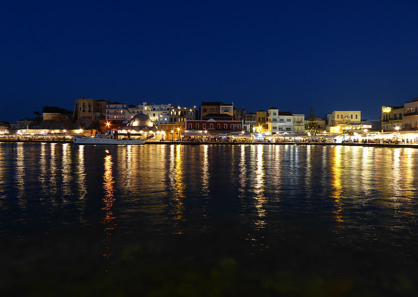
[{"label": "low dark quay edge along the waterline, interrupted by the white boat", "polygon": [[[59,143],[59,144],[74,144],[73,141],[65,140],[14,140],[1,139],[0,143]],[[402,148],[418,148],[418,144],[388,144],[388,143],[332,143],[332,142],[187,142],[187,141],[151,141],[146,142],[146,145],[342,145],[342,146],[368,146],[368,147],[402,147]],[[78,144],[74,144],[78,145]],[[99,145],[99,144],[97,144]],[[103,144],[100,144],[103,145]]]}]

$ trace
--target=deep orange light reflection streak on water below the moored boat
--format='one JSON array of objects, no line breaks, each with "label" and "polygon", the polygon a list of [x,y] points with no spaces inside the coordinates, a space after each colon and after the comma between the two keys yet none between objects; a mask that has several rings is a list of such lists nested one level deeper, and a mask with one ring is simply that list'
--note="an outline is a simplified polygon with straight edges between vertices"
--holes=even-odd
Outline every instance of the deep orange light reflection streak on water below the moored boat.
[{"label": "deep orange light reflection streak on water below the moored boat", "polygon": [[[107,155],[104,157],[104,174],[103,174],[103,203],[104,207],[102,210],[106,211],[105,217],[102,220],[103,225],[105,226],[104,231],[106,237],[109,238],[112,235],[112,230],[115,228],[115,223],[113,220],[116,218],[113,215],[112,206],[115,203],[114,198],[114,188],[113,188],[113,162],[112,155]],[[112,254],[109,252],[109,246],[106,247],[107,251],[103,254],[105,258],[109,258]]]}]

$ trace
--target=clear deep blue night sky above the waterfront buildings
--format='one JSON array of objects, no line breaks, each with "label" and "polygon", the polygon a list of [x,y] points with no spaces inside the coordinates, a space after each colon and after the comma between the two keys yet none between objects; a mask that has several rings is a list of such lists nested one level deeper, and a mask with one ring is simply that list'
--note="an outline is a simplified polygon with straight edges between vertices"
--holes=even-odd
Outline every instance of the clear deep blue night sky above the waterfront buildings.
[{"label": "clear deep blue night sky above the waterfront buildings", "polygon": [[418,96],[417,15],[416,1],[3,2],[0,120],[78,97],[379,118]]}]

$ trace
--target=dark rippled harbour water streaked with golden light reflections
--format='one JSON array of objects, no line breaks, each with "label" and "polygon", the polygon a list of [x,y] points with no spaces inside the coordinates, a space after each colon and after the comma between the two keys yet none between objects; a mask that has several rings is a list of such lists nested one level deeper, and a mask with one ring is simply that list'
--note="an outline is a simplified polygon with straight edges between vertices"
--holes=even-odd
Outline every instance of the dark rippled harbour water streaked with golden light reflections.
[{"label": "dark rippled harbour water streaked with golden light reflections", "polygon": [[0,143],[0,295],[418,289],[418,150]]}]

